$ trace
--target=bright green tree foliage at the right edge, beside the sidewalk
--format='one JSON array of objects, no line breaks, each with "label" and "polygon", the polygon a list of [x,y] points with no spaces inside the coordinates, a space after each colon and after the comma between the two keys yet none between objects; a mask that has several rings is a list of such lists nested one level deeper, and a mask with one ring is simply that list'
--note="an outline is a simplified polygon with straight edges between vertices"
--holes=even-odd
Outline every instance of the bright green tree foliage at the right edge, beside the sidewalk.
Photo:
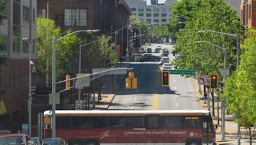
[{"label": "bright green tree foliage at the right edge, beside the sidewalk", "polygon": [[[256,30],[245,39],[239,68],[230,76],[221,96],[226,99],[230,113],[236,115],[236,122],[246,127],[250,141],[256,133]],[[252,127],[253,125],[253,127]]]}]

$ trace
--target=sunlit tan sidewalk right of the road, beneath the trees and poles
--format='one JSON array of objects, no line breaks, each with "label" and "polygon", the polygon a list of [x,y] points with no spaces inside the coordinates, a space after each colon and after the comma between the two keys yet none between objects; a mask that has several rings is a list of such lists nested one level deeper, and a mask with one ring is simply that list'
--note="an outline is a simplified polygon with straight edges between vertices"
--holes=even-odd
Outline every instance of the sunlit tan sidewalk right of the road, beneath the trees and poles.
[{"label": "sunlit tan sidewalk right of the road, beneath the trees and poles", "polygon": [[[198,102],[200,103],[200,106],[202,109],[207,110],[208,106],[207,104],[204,104],[204,86],[201,85],[201,89],[202,89],[202,93],[199,92],[199,85],[197,83],[197,79],[195,78],[190,78],[191,79],[191,83],[195,88],[195,92],[196,92],[196,97]],[[215,124],[218,125],[218,102],[217,102],[217,95],[214,94],[214,113],[215,116],[212,116],[212,121]],[[216,130],[216,142],[217,144],[237,144],[237,124],[234,122],[234,118],[232,115],[230,114],[225,114],[225,141],[221,141],[221,103],[219,102],[219,125],[218,128]],[[212,113],[212,97],[210,94],[210,109],[211,109],[211,114]],[[245,135],[246,134],[246,130],[244,127],[241,127],[240,129],[241,131],[241,144],[245,145],[245,144],[250,144],[248,137]],[[256,141],[253,141],[254,145],[256,145]]]}]

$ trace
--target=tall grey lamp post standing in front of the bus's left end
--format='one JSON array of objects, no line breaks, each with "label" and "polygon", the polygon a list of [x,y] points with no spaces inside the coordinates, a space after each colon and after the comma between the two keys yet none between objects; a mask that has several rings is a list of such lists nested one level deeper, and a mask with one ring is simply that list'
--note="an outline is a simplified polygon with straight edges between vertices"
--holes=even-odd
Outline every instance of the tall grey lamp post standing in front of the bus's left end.
[{"label": "tall grey lamp post standing in front of the bus's left end", "polygon": [[67,36],[70,36],[72,34],[76,34],[78,32],[99,32],[99,29],[75,31],[59,39],[56,39],[54,37],[52,38],[52,138],[56,137],[56,43],[61,39],[66,38]]}]

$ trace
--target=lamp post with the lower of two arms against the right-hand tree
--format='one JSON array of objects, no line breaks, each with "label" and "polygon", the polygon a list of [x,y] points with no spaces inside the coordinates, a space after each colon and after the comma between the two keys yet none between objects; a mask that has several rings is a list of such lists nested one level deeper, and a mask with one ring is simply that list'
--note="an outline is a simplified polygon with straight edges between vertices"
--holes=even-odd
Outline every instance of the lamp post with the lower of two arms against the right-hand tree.
[{"label": "lamp post with the lower of two arms against the right-hand tree", "polygon": [[[195,43],[208,43],[210,45],[214,45],[213,43],[210,43],[208,41],[195,41]],[[226,69],[226,63],[227,63],[227,48],[221,48],[218,45],[214,45],[217,48],[220,48],[224,51],[224,69]],[[223,87],[225,86],[225,79],[226,77],[223,76]],[[209,102],[209,99],[208,99]],[[209,104],[208,104],[209,105]],[[225,140],[225,100],[221,100],[221,140]],[[208,106],[210,107],[210,106]]]}]

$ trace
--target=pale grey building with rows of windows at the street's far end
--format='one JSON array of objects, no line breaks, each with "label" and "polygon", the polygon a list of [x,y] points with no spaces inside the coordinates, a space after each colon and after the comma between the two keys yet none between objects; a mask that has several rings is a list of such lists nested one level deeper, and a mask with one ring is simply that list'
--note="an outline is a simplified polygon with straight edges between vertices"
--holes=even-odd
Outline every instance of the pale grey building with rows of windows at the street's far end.
[{"label": "pale grey building with rows of windows at the street's far end", "polygon": [[132,14],[147,20],[149,23],[157,23],[159,25],[166,24],[172,17],[173,4],[177,0],[166,0],[165,4],[158,4],[158,1],[152,0],[151,5],[145,0],[125,0]]}]

